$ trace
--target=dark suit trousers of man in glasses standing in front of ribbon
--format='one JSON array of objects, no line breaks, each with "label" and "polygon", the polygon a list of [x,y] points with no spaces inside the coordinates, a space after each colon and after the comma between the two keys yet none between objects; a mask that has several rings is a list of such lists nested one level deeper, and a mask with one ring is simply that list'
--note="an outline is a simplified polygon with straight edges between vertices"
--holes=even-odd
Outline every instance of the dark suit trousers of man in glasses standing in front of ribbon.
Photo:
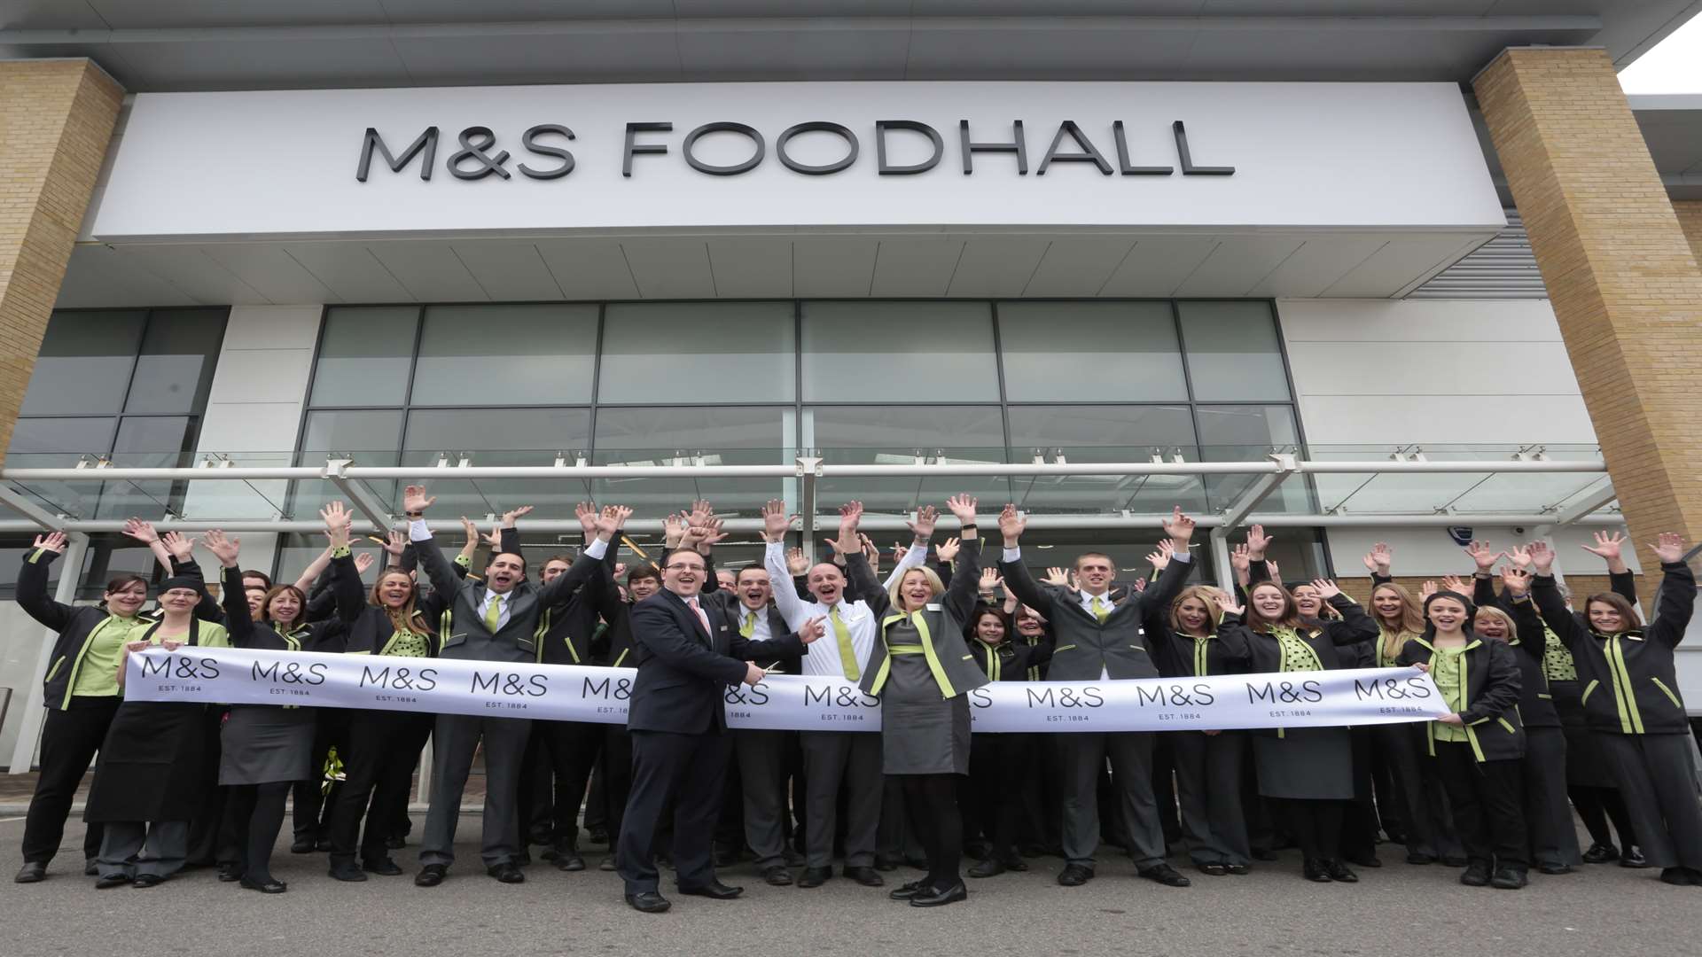
[{"label": "dark suit trousers of man in glasses standing in front of ribbon", "polygon": [[674,874],[681,889],[715,882],[715,819],[727,775],[727,734],[633,731],[633,778],[614,863],[628,894],[657,889],[655,845],[664,811],[674,809]]}]

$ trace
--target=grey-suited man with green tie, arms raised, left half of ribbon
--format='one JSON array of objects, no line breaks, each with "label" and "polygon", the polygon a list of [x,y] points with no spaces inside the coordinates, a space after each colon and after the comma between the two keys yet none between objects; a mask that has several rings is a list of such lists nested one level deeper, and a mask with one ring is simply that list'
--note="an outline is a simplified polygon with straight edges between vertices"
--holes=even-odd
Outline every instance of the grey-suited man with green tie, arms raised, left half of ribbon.
[{"label": "grey-suited man with green tie, arms raised, left half of ribbon", "polygon": [[[408,513],[408,538],[432,587],[446,596],[441,620],[443,650],[439,657],[458,661],[497,661],[533,664],[538,661],[538,620],[545,608],[565,601],[574,589],[596,576],[597,565],[614,531],[630,509],[608,507],[597,516],[596,542],[567,572],[545,586],[526,581],[526,560],[512,552],[497,552],[485,567],[485,581],[460,579],[432,542],[426,509],[434,497],[420,485],[408,485],[403,507]],[[414,884],[443,884],[454,862],[454,828],[461,816],[461,792],[473,766],[473,753],[485,744],[485,817],[482,858],[490,877],[519,884],[519,780],[531,722],[514,717],[437,715],[432,727],[431,809],[420,841],[420,872]]]}]

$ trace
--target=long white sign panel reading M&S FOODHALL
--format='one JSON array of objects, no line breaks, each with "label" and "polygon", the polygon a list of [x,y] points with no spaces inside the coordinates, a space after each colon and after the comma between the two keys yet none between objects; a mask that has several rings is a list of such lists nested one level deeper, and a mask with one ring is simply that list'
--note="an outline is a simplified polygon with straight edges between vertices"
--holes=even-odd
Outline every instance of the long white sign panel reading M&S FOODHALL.
[{"label": "long white sign panel reading M&S FOODHALL", "polygon": [[141,94],[102,240],[1499,228],[1454,83]]}]

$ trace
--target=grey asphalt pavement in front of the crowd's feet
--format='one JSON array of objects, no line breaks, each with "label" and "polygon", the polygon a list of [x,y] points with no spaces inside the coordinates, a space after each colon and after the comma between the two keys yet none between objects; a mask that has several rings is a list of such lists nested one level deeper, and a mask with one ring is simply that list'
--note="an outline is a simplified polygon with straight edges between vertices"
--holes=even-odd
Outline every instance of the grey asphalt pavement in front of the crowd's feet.
[{"label": "grey asphalt pavement in front of the crowd's feet", "polygon": [[[1140,954],[1215,957],[1295,954],[1343,957],[1544,957],[1702,954],[1702,887],[1670,887],[1654,870],[1585,867],[1532,875],[1523,891],[1462,887],[1447,867],[1411,867],[1385,845],[1380,868],[1358,884],[1311,884],[1299,858],[1256,865],[1248,877],[1205,877],[1174,858],[1193,887],[1134,875],[1103,858],[1098,879],[1059,887],[1062,862],[1033,858],[1026,874],[970,882],[970,899],[938,909],[888,901],[885,889],[834,879],[802,891],[762,884],[749,863],[722,872],[745,887],[737,901],[674,896],[665,914],[621,901],[614,874],[528,868],[497,884],[478,865],[478,816],[463,814],[458,863],[441,887],[414,887],[417,848],[397,851],[405,877],[339,884],[323,855],[291,855],[288,829],[274,874],[289,892],[262,896],[192,870],[153,889],[95,891],[82,877],[82,826],[41,884],[12,884],[24,822],[0,819],[0,954],[233,952],[342,954]],[[419,821],[415,821],[415,834]],[[888,872],[888,885],[917,877]],[[664,872],[664,894],[672,889]]]}]

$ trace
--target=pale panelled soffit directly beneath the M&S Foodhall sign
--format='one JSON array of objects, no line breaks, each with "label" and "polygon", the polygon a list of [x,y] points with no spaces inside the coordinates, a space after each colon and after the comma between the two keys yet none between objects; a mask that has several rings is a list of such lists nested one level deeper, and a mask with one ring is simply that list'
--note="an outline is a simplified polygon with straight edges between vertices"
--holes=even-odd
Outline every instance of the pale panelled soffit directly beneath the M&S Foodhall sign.
[{"label": "pale panelled soffit directly beneath the M&S Foodhall sign", "polygon": [[61,308],[790,296],[1396,296],[1493,233],[78,244]]}]

